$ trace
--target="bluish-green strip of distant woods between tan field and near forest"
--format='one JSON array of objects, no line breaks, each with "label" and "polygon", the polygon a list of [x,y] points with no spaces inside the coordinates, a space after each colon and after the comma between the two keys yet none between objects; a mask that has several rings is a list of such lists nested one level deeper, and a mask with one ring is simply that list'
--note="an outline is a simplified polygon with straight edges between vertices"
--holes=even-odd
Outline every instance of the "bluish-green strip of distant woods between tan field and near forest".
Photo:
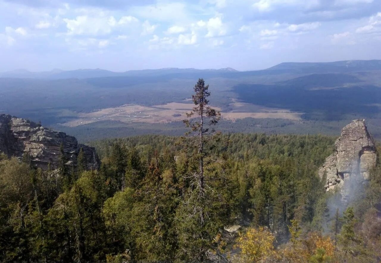
[{"label": "bluish-green strip of distant woods between tan field and near forest", "polygon": [[[238,119],[220,120],[216,130],[223,133],[266,133],[266,134],[322,134],[339,136],[341,128],[360,116],[340,121],[293,121],[285,119]],[[375,139],[381,139],[380,119],[367,119],[369,132]],[[54,129],[61,130],[75,136],[81,142],[89,142],[102,138],[123,138],[136,135],[161,134],[180,136],[186,129],[182,122],[171,123],[124,123],[118,121],[96,122],[77,127],[53,125]]]}]

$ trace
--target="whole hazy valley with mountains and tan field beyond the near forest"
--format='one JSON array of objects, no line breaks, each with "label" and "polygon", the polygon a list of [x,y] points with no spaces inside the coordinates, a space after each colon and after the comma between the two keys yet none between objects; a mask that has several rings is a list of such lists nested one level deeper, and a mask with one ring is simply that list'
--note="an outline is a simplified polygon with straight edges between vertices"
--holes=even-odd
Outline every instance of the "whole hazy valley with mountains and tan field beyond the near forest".
[{"label": "whole hazy valley with mountains and tan field beyond the near forest", "polygon": [[[81,140],[160,133],[179,135],[198,76],[213,91],[221,130],[337,134],[368,119],[381,135],[381,61],[282,63],[261,71],[100,69],[1,74],[2,113],[64,130]],[[150,123],[155,123],[150,125]],[[232,123],[235,123],[234,127]],[[108,132],[105,132],[108,130]]]}]

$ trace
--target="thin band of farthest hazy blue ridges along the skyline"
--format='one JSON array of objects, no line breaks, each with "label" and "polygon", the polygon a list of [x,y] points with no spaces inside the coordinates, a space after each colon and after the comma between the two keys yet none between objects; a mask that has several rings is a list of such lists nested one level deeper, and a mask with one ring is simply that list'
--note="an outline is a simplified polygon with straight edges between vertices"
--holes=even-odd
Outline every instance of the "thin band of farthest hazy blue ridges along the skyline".
[{"label": "thin band of farthest hazy blue ridges along the skyline", "polygon": [[381,60],[347,60],[323,63],[280,63],[276,66],[259,71],[237,71],[232,68],[224,69],[144,69],[126,72],[114,72],[105,69],[77,69],[63,71],[54,69],[44,72],[30,72],[18,69],[0,73],[2,78],[20,79],[91,79],[98,77],[158,77],[165,75],[181,75],[181,77],[244,77],[274,74],[324,74],[324,73],[349,73],[359,71],[381,70]]}]

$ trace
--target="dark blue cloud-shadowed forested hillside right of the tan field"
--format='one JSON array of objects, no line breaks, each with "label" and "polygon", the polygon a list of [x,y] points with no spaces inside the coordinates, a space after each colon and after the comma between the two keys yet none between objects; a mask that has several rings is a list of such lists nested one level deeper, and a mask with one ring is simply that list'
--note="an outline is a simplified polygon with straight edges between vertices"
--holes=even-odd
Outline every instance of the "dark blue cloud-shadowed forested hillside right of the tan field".
[{"label": "dark blue cloud-shadowed forested hillside right of the tan field", "polygon": [[233,88],[245,103],[304,112],[304,119],[338,120],[381,113],[381,88],[344,74],[312,74],[272,85]]}]

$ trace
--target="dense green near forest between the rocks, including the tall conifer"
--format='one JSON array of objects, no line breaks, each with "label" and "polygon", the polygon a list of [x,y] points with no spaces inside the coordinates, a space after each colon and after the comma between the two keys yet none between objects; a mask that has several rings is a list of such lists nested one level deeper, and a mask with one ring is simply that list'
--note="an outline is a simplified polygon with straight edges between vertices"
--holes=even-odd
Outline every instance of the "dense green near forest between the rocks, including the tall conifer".
[{"label": "dense green near forest between the rocks, including the tall conifer", "polygon": [[99,170],[82,154],[76,167],[62,155],[54,171],[2,155],[0,261],[379,260],[380,164],[332,215],[339,193],[327,194],[317,171],[335,138],[220,135],[205,126],[218,112],[197,85],[190,133],[94,141]]}]

